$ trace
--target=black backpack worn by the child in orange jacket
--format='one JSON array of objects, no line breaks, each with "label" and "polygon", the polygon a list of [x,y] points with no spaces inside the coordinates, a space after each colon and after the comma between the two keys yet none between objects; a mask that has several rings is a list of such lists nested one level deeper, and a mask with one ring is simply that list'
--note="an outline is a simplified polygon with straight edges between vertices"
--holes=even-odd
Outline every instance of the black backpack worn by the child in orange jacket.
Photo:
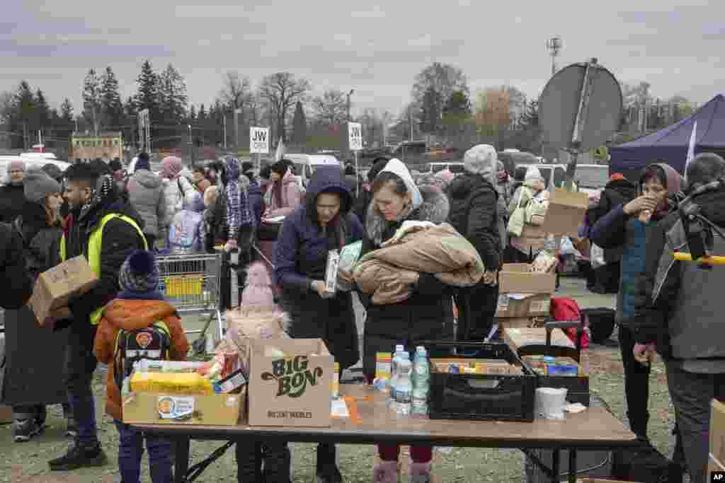
[{"label": "black backpack worn by the child in orange jacket", "polygon": [[171,336],[164,322],[154,322],[144,329],[120,329],[113,353],[113,379],[117,387],[123,387],[123,379],[133,371],[134,362],[141,359],[168,361],[170,350]]}]

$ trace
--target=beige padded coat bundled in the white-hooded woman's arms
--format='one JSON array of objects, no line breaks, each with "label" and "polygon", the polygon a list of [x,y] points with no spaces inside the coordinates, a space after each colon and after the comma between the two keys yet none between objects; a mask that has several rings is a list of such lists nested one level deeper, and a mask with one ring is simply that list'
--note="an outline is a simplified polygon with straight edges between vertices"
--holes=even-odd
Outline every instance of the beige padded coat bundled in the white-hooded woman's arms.
[{"label": "beige padded coat bundled in the white-hooded woman's arms", "polygon": [[376,305],[389,305],[413,295],[400,282],[402,272],[422,272],[452,287],[472,287],[484,275],[476,248],[450,224],[404,223],[385,246],[365,254],[353,273],[360,291]]}]

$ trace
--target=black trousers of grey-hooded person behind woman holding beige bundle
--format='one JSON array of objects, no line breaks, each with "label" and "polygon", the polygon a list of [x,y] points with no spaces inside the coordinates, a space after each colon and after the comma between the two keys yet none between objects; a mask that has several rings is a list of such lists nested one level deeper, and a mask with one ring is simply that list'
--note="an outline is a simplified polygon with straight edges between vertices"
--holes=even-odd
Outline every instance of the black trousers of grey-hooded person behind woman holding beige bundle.
[{"label": "black trousers of grey-hooded person behind woman holding beige bundle", "polygon": [[454,296],[458,309],[457,340],[480,341],[491,332],[498,305],[498,285],[479,282]]}]

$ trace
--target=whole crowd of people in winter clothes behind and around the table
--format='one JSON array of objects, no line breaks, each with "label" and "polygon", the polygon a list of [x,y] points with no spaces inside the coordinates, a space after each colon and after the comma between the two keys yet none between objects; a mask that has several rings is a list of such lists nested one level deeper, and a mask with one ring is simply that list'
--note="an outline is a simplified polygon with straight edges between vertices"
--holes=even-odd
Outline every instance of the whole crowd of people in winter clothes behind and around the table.
[{"label": "whole crowd of people in winter clothes behind and around the table", "polygon": [[[223,245],[226,251],[239,251],[239,287],[247,280],[245,266],[262,259],[273,274],[276,303],[291,320],[289,335],[323,339],[341,369],[362,358],[368,383],[375,375],[375,354],[397,343],[414,350],[423,340],[490,337],[502,264],[529,262],[544,250],[558,250],[535,222],[545,212],[537,210],[546,209],[549,193],[539,169],[531,165],[507,172],[488,145],[466,151],[463,173],[457,176],[448,170],[415,175],[397,159],[379,158],[365,178],[349,166],[325,167],[315,169],[305,185],[286,159],[256,172],[252,163],[231,156],[191,170],[170,156],[154,174],[146,153],[138,154],[128,172],[103,161],[75,164],[65,173],[51,167],[26,172],[14,162],[8,176],[0,188],[5,222],[0,224],[0,264],[1,277],[12,284],[0,294],[7,309],[0,402],[13,407],[14,440],[36,436],[43,429],[46,406],[61,403],[73,443],[65,455],[49,462],[50,468],[106,464],[91,379],[99,361],[109,364],[107,413],[119,433],[123,482],[139,481],[144,434],[123,424],[113,380],[115,337],[122,329],[150,327],[160,320],[173,342],[171,356],[183,360],[188,351],[178,314],[159,293],[154,247],[193,252]],[[676,409],[678,460],[692,482],[704,482],[709,403],[723,398],[725,387],[716,296],[725,272],[674,261],[671,252],[687,244],[687,227],[674,209],[683,190],[701,204],[712,224],[725,227],[725,185],[718,184],[725,177],[725,161],[701,154],[689,163],[686,176],[687,182],[661,163],[647,167],[636,185],[613,176],[587,211],[581,234],[602,248],[608,261],[605,279],[592,277],[589,285],[604,291],[618,287],[616,321],[630,427],[647,440],[650,367],[643,361],[656,350],[666,361]],[[361,256],[374,255],[402,227],[444,223],[465,241],[460,251],[475,261],[473,280],[458,283],[432,269],[376,268],[387,287],[396,287],[394,293],[381,293],[368,290],[370,272],[341,272],[341,280],[365,307],[361,354],[352,292],[331,294],[323,281],[328,252],[360,241]],[[427,233],[423,238],[435,245],[434,231]],[[713,251],[725,253],[725,240],[713,239]],[[33,281],[79,255],[88,259],[98,285],[72,299],[67,313],[51,314],[41,327],[25,306]],[[449,263],[451,272],[462,268]],[[230,297],[222,294],[226,308],[236,306]],[[33,352],[23,350],[31,344]],[[33,357],[38,350],[43,358]],[[145,440],[152,481],[169,482],[169,442]],[[244,448],[238,442],[240,482],[251,477]],[[399,447],[380,444],[378,453],[374,480],[397,482]],[[431,481],[431,456],[430,446],[412,446],[409,474],[417,481]],[[289,482],[287,445],[265,444],[265,458],[267,481]],[[342,481],[335,445],[318,445],[316,472],[321,483]]]}]

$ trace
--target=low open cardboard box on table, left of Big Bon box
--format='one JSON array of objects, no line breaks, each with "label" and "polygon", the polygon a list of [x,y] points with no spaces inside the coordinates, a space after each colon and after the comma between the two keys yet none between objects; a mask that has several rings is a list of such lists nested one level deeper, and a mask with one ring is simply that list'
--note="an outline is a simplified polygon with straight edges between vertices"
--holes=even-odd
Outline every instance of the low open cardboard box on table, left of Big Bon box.
[{"label": "low open cardboard box on table, left of Big Bon box", "polygon": [[239,394],[165,395],[130,392],[123,395],[126,424],[204,424],[235,426],[244,419],[247,389]]}]

